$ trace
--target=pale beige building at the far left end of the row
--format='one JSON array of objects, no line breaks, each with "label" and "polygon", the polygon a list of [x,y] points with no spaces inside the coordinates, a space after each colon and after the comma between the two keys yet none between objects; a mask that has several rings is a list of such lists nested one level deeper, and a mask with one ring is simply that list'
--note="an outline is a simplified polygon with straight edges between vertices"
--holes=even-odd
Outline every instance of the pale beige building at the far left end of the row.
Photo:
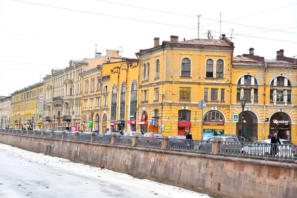
[{"label": "pale beige building at the far left end of the row", "polygon": [[9,110],[10,110],[11,97],[0,97],[0,118],[1,124],[0,127],[9,126]]}]

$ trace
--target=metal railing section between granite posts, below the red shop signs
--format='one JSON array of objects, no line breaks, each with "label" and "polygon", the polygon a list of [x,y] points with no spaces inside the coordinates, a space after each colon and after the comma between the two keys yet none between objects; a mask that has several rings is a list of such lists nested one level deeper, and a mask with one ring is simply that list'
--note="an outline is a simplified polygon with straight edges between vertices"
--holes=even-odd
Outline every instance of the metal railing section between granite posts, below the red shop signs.
[{"label": "metal railing section between granite posts, below the red shop signs", "polygon": [[167,148],[211,152],[211,142],[204,140],[168,139]]}]

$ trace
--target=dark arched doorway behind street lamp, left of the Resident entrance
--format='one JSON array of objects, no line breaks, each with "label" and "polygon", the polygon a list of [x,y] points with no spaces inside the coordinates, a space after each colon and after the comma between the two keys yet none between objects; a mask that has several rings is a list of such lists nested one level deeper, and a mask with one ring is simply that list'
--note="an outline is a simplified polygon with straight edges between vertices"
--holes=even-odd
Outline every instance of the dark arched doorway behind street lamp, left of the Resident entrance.
[{"label": "dark arched doorway behind street lamp, left of the Resident entrance", "polygon": [[[239,140],[242,132],[242,112],[239,114],[239,121],[236,124],[236,131]],[[258,140],[258,119],[251,111],[245,111],[244,117],[244,141],[255,142]]]}]

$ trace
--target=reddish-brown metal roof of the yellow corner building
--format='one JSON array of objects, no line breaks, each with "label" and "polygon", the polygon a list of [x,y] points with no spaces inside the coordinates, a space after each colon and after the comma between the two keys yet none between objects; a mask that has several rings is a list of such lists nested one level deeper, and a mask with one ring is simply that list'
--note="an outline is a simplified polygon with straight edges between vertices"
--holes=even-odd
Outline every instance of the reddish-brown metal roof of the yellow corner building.
[{"label": "reddish-brown metal roof of the yellow corner building", "polygon": [[192,39],[192,40],[181,41],[181,42],[163,41],[162,44],[232,47],[225,40],[214,40],[214,39]]}]

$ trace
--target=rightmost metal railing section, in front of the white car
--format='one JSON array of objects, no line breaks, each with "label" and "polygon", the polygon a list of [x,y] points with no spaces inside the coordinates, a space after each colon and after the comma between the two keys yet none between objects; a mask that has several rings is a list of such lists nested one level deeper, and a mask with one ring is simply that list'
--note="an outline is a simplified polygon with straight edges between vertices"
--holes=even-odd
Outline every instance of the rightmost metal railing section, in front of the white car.
[{"label": "rightmost metal railing section, in front of the white car", "polygon": [[219,144],[222,153],[297,159],[296,145],[243,142],[220,142]]}]

